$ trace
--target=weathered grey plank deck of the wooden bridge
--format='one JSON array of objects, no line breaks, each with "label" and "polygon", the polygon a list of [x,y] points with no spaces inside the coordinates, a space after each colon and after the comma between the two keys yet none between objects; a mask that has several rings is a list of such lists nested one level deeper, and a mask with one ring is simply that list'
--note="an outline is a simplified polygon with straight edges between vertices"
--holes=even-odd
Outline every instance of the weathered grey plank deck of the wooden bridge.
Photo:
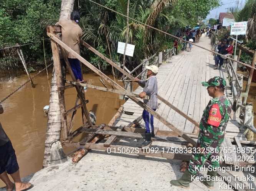
[{"label": "weathered grey plank deck of the wooden bridge", "polygon": [[[198,44],[211,49],[208,38],[201,37]],[[159,95],[182,110],[189,117],[199,122],[203,115],[203,110],[211,99],[206,88],[201,85],[201,82],[208,81],[208,79],[214,76],[225,78],[227,83],[229,81],[227,70],[225,68],[214,70],[214,65],[213,54],[195,46],[191,52],[183,51],[179,55],[167,58],[166,63],[163,63],[159,67],[159,73],[157,74]],[[229,86],[230,84],[227,85]],[[142,87],[138,87],[135,92],[139,93],[142,90]],[[233,103],[233,96],[230,89],[225,90],[225,95]],[[181,131],[192,133],[195,125],[160,100],[159,103],[157,113]],[[124,113],[116,120],[116,126],[127,125],[141,116],[142,111],[143,108],[128,99],[124,104]],[[226,128],[226,136],[237,136],[241,140],[246,140],[244,134],[239,133],[239,123],[233,120],[233,115],[234,113],[231,113],[231,119]],[[238,114],[236,115],[236,119],[238,119]],[[143,124],[144,121],[140,120],[140,123]],[[171,130],[157,119],[154,120],[154,126],[160,130]]]}]

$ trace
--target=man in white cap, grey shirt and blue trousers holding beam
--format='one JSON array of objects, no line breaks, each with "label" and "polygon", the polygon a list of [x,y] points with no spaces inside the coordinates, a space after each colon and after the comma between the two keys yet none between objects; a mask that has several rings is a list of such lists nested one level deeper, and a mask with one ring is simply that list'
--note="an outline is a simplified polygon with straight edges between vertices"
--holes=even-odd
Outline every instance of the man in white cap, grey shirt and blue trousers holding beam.
[{"label": "man in white cap, grey shirt and blue trousers holding beam", "polygon": [[[140,80],[135,78],[135,82],[139,83],[140,86],[144,87],[143,92],[139,94],[140,98],[144,98],[146,95],[149,95],[149,100],[144,99],[144,104],[149,106],[152,110],[157,110],[157,73],[159,71],[158,67],[155,65],[146,66],[147,70],[147,79]],[[151,115],[147,110],[143,110],[142,118],[145,121],[145,141],[141,144],[142,146],[147,146],[151,142],[151,137],[154,137],[154,116]]]}]

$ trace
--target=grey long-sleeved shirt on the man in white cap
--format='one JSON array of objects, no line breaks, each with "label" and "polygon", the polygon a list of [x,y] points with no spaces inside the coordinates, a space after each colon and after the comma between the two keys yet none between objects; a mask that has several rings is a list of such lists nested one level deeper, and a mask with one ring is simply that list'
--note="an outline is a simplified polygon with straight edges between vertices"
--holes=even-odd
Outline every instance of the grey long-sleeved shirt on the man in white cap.
[{"label": "grey long-sleeved shirt on the man in white cap", "polygon": [[149,106],[151,109],[158,108],[157,102],[157,78],[155,76],[151,76],[146,80],[139,80],[139,84],[144,87],[143,91],[146,92],[147,95],[150,96],[149,100],[144,99],[144,104]]}]

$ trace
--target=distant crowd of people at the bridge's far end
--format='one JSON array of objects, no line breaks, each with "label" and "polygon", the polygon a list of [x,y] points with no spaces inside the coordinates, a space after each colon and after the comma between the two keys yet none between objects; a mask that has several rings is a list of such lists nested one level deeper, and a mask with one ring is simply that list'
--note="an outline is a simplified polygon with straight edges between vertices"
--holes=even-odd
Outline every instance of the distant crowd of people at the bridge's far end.
[{"label": "distant crowd of people at the bridge's far end", "polygon": [[[189,43],[182,41],[182,50],[187,50],[188,47],[188,52],[191,51],[192,49],[192,43],[197,43],[200,40],[200,37],[204,34],[205,37],[208,37],[209,39],[211,38],[211,33],[213,32],[213,28],[202,28],[202,29],[191,29],[188,28],[185,32],[182,32],[180,35],[177,33],[177,37],[183,40],[187,40]],[[178,54],[178,42],[179,40],[175,39],[174,40],[174,48],[176,55]]]}]

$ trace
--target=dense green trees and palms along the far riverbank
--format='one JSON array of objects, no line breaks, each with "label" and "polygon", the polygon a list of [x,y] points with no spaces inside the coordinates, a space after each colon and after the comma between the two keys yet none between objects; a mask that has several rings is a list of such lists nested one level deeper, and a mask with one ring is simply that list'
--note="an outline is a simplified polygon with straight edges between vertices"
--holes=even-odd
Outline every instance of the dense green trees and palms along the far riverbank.
[{"label": "dense green trees and palms along the far riverbank", "polygon": [[[95,0],[124,15],[127,11],[127,0]],[[75,1],[74,9],[78,9]],[[88,0],[80,0],[83,40],[115,62],[122,63],[122,55],[117,52],[117,42],[125,42],[127,31],[126,18],[104,9]],[[208,15],[212,8],[219,5],[219,0],[130,0],[129,16],[155,28],[176,34],[186,26],[195,26],[200,19]],[[43,37],[47,24],[58,21],[61,0],[5,0],[0,5],[0,47],[15,44],[29,44],[22,47],[25,59],[31,67],[44,66]],[[155,30],[145,27],[136,21],[129,21],[128,42],[135,45],[134,57],[127,57],[127,66],[132,68],[145,57],[171,48],[173,39]],[[12,50],[0,52],[1,68],[16,68],[17,55]],[[51,57],[49,40],[45,40],[46,58]],[[102,70],[109,65],[81,49],[81,54]]]}]

